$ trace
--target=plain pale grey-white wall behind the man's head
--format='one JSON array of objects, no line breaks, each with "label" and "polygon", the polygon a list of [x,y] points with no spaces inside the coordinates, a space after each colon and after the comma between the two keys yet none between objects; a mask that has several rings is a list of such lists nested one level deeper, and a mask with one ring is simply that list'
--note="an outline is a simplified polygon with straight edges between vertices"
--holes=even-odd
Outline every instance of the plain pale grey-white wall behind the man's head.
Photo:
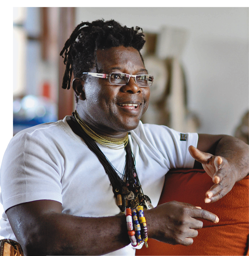
[{"label": "plain pale grey-white wall behind the man's head", "polygon": [[249,109],[248,7],[77,7],[77,24],[102,18],[145,32],[187,28],[182,61],[189,109],[201,120],[198,132],[233,135]]}]

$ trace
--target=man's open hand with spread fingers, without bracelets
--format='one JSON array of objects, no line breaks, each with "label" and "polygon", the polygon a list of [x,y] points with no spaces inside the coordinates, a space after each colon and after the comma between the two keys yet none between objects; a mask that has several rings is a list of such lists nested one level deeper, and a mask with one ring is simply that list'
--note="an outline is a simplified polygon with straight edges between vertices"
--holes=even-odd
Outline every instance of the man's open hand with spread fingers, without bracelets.
[{"label": "man's open hand with spread fingers, without bracelets", "polygon": [[204,153],[194,146],[189,147],[191,156],[200,162],[215,183],[207,192],[205,203],[216,202],[226,195],[236,182],[236,175],[229,162],[222,156]]}]

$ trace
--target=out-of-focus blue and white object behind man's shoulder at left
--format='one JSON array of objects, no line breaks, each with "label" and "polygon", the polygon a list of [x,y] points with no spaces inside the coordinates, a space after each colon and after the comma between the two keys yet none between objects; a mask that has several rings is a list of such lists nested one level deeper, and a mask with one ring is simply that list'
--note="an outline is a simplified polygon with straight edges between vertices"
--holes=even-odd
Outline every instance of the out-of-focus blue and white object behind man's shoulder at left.
[{"label": "out-of-focus blue and white object behind man's shoulder at left", "polygon": [[13,135],[23,129],[57,120],[56,104],[45,97],[27,95],[13,100]]}]

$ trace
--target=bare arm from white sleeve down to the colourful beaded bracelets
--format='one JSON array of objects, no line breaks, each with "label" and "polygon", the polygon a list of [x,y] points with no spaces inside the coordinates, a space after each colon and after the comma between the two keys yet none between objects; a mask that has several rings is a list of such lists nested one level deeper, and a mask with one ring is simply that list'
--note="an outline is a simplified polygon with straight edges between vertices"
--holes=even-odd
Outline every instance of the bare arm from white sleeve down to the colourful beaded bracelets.
[{"label": "bare arm from white sleeve down to the colourful beaded bracelets", "polygon": [[124,215],[90,218],[62,214],[52,200],[32,201],[6,212],[25,255],[102,255],[128,245]]}]

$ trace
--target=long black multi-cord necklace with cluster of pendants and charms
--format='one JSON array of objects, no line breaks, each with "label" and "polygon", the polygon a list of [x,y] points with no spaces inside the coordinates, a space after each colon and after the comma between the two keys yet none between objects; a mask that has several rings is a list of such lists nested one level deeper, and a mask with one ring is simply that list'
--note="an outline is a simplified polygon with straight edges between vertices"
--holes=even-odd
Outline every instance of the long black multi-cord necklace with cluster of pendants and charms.
[{"label": "long black multi-cord necklace with cluster of pendants and charms", "polygon": [[73,132],[85,141],[85,144],[97,156],[100,163],[103,165],[111,182],[112,191],[117,199],[117,205],[121,212],[124,212],[124,210],[128,207],[135,208],[138,205],[142,205],[144,209],[153,208],[149,197],[143,194],[143,190],[136,172],[135,159],[132,154],[130,144],[127,143],[125,146],[126,162],[124,168],[124,178],[121,179],[117,174],[117,170],[100,150],[94,139],[82,129],[74,116],[74,112],[73,116],[71,116],[71,121],[74,124],[74,129],[72,129]]}]

